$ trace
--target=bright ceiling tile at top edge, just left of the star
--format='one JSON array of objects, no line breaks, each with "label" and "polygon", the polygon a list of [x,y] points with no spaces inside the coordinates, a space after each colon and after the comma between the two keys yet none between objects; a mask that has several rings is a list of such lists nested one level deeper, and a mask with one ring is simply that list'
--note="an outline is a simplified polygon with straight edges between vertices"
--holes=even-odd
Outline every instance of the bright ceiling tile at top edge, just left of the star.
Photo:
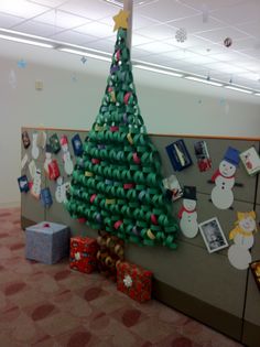
[{"label": "bright ceiling tile at top edge, just left of the star", "polygon": [[118,13],[118,8],[101,0],[68,0],[59,9],[91,20],[99,20]]}]

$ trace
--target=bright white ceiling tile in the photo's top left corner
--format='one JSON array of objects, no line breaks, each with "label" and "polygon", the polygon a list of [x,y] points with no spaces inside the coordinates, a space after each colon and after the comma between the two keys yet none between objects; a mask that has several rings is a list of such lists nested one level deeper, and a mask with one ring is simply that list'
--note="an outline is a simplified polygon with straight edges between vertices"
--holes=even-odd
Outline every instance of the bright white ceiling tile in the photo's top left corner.
[{"label": "bright white ceiling tile in the photo's top left corner", "polygon": [[0,12],[22,18],[32,18],[44,13],[48,8],[25,0],[1,0]]}]

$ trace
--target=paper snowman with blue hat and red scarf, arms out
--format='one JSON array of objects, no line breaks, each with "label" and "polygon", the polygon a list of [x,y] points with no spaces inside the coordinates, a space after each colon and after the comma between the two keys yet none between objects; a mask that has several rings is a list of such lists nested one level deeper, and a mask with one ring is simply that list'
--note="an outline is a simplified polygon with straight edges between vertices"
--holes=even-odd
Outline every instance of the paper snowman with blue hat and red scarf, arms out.
[{"label": "paper snowman with blue hat and red scarf, arms out", "polygon": [[215,187],[212,191],[212,202],[219,209],[227,209],[232,205],[232,187],[238,163],[239,151],[229,147],[218,170],[212,177],[212,182],[215,183]]}]

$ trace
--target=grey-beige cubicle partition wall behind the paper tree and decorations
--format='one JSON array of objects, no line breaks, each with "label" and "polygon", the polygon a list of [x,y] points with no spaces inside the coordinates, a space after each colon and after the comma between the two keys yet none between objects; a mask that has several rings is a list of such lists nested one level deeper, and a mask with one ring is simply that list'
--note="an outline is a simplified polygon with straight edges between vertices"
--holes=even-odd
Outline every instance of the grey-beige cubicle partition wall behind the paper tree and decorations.
[{"label": "grey-beige cubicle partition wall behind the paper tree and decorations", "polygon": [[[43,129],[23,128],[30,135]],[[75,162],[75,155],[71,144],[73,135],[78,133],[84,141],[87,131],[44,129],[50,138],[53,133],[58,137],[66,134],[69,142],[69,150]],[[237,220],[237,212],[256,210],[257,220],[260,217],[260,187],[258,175],[249,176],[242,166],[236,172],[236,185],[232,188],[235,200],[232,208],[218,209],[210,202],[210,193],[214,187],[210,181],[214,172],[218,169],[220,161],[228,147],[239,151],[245,151],[250,147],[256,147],[259,151],[260,139],[235,139],[235,138],[210,138],[192,135],[159,135],[151,134],[153,143],[156,145],[162,159],[162,173],[164,177],[175,174],[182,186],[195,186],[197,192],[197,220],[203,223],[213,217],[217,217],[223,231],[228,240],[229,231]],[[170,143],[183,139],[192,156],[193,165],[174,172],[165,147]],[[207,172],[199,172],[196,156],[194,154],[194,143],[205,140],[213,161],[213,167]],[[22,147],[22,158],[26,152],[31,156],[31,148],[24,150]],[[42,169],[45,152],[41,151],[35,161],[36,166]],[[61,174],[65,181],[69,181],[63,169],[62,152],[53,154],[58,162]],[[25,166],[22,174],[29,174]],[[42,174],[43,186],[48,186],[54,197],[56,184],[47,180]],[[44,208],[40,202],[35,200],[30,193],[22,194],[22,227],[50,220],[63,223],[71,227],[73,235],[97,236],[96,230],[72,219],[62,204],[53,198],[53,205]],[[173,214],[177,218],[177,212],[182,206],[182,199],[173,202]],[[232,241],[230,241],[230,245]],[[154,297],[174,307],[188,316],[192,316],[204,324],[243,343],[245,345],[260,346],[260,292],[253,281],[249,270],[237,270],[229,263],[227,249],[209,253],[198,234],[193,239],[187,239],[182,234],[178,236],[177,250],[170,250],[165,247],[139,247],[133,243],[126,246],[126,258],[130,262],[143,265],[153,271],[153,293]],[[260,259],[260,236],[254,235],[254,246],[251,251],[252,259]]]}]

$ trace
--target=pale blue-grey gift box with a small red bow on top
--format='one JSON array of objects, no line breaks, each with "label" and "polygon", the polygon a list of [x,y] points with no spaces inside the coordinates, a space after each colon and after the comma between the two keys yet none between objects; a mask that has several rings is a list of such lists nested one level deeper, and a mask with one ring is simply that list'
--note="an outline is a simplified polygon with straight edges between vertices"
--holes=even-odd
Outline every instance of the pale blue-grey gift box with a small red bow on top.
[{"label": "pale blue-grey gift box with a small red bow on top", "polygon": [[25,257],[53,264],[68,257],[69,229],[65,225],[43,221],[25,229]]}]

